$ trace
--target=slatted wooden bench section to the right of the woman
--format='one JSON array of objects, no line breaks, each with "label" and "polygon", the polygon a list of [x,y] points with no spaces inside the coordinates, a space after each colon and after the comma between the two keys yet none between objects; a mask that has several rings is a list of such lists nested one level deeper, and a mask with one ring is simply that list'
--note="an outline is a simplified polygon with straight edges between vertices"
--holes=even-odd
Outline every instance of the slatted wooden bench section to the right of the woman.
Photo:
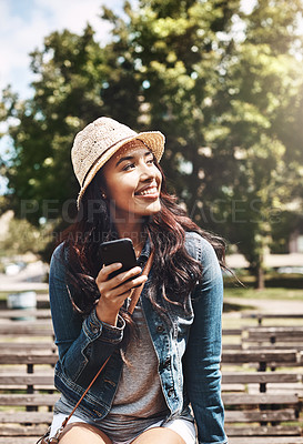
[{"label": "slatted wooden bench section to the right of the woman", "polygon": [[[279,370],[285,365],[295,371]],[[223,350],[222,398],[230,444],[303,443],[299,365],[296,350]],[[275,372],[269,371],[273,366]]]}]

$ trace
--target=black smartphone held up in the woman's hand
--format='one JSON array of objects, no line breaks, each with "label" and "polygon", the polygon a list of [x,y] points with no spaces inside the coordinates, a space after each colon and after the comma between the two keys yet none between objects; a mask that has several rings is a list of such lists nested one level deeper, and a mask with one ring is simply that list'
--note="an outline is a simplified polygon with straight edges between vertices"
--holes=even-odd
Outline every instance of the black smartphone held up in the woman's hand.
[{"label": "black smartphone held up in the woman's hand", "polygon": [[114,262],[122,263],[122,268],[112,272],[109,279],[137,266],[137,259],[132,240],[129,238],[103,242],[100,245],[101,260],[105,265]]}]

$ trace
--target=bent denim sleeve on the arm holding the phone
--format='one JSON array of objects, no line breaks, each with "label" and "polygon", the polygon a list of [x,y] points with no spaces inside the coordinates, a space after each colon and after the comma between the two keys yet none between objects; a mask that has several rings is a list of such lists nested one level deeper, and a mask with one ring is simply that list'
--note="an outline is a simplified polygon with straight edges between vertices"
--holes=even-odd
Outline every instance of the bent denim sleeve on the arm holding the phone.
[{"label": "bent denim sleeve on the arm holding the phone", "polygon": [[51,259],[50,306],[60,363],[64,373],[77,382],[98,372],[122,341],[125,323],[121,316],[117,326],[103,323],[99,321],[95,310],[83,321],[75,312],[68,290],[64,253],[60,244]]}]

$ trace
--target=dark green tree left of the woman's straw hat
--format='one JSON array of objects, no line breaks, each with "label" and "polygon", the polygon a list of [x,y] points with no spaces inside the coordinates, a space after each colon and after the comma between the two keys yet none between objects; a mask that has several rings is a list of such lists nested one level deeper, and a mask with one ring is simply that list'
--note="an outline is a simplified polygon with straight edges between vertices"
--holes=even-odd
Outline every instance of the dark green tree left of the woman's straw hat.
[{"label": "dark green tree left of the woman's straw hat", "polygon": [[3,92],[1,118],[11,122],[13,155],[2,170],[16,215],[38,224],[40,218],[61,220],[61,208],[74,211],[69,200],[79,186],[70,149],[74,134],[100,115],[107,74],[89,26],[82,36],[63,31],[47,37],[43,50],[31,54],[31,69],[37,79],[32,98],[20,101],[10,89]]}]

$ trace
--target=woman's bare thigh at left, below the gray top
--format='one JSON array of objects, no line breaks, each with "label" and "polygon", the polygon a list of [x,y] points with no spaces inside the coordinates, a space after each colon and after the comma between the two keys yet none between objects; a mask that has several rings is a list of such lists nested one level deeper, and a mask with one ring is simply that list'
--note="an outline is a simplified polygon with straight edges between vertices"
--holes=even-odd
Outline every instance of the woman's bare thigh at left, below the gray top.
[{"label": "woman's bare thigh at left, below the gray top", "polygon": [[90,424],[68,424],[62,433],[60,444],[112,444],[111,440],[100,430]]}]

